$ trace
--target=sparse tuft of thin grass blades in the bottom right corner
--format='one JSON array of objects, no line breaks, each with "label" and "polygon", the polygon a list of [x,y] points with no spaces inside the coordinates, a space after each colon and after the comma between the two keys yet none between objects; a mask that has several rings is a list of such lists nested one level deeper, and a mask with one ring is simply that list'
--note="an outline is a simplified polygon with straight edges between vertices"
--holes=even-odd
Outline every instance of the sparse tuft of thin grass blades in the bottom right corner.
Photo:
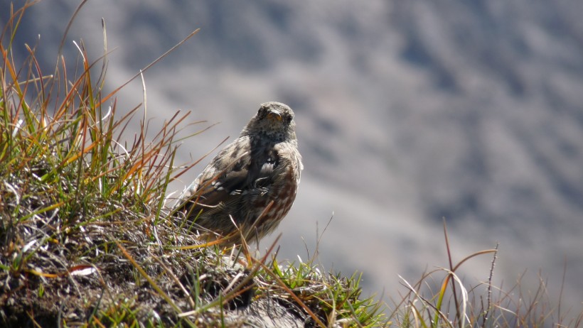
[{"label": "sparse tuft of thin grass blades in the bottom right corner", "polygon": [[[389,319],[396,327],[581,327],[583,311],[571,316],[553,305],[545,280],[534,292],[523,290],[520,279],[510,290],[492,284],[498,245],[463,258],[454,265],[444,222],[449,268],[437,268],[411,284],[402,278],[407,293],[393,301]],[[471,286],[456,271],[476,256],[493,254],[488,281]],[[563,277],[564,278],[564,277]]]}]

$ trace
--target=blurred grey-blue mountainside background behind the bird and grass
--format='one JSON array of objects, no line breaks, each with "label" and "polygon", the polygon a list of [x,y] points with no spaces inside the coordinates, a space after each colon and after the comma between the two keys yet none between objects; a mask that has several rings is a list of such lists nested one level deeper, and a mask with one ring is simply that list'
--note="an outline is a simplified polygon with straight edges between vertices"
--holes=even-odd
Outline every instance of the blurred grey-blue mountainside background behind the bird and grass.
[{"label": "blurred grey-blue mountainside background behind the bird and grass", "polygon": [[[28,9],[17,60],[24,43],[36,45],[52,72],[79,3]],[[2,26],[9,8],[0,1]],[[318,248],[323,267],[362,271],[365,294],[399,299],[398,275],[413,283],[447,266],[445,219],[454,261],[499,242],[494,282],[511,286],[525,273],[525,290],[542,278],[553,299],[566,264],[565,304],[580,309],[582,16],[583,1],[571,0],[93,0],[63,54],[72,62],[82,39],[100,58],[104,18],[111,91],[200,28],[144,75],[152,133],[178,110],[207,121],[187,132],[220,122],[185,141],[178,163],[235,138],[261,102],[289,104],[305,170],[274,234],[280,259],[306,261],[332,218]],[[117,107],[141,102],[137,80]],[[486,280],[490,262],[466,263],[466,280]]]}]

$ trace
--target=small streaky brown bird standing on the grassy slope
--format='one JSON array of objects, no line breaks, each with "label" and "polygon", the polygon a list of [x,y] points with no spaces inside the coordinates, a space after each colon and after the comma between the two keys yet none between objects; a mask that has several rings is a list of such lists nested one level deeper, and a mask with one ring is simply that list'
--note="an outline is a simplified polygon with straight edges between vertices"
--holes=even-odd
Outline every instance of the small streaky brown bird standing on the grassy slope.
[{"label": "small streaky brown bird standing on the grassy slope", "polygon": [[294,204],[303,169],[294,111],[265,102],[178,197],[176,212],[230,244],[259,243]]}]

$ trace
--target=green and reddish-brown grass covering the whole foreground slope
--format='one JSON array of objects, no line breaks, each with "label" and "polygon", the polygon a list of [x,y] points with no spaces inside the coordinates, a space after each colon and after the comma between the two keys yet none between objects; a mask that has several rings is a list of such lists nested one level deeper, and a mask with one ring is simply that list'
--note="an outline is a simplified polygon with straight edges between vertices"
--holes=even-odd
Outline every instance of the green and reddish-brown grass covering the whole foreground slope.
[{"label": "green and reddish-brown grass covering the whole foreground slope", "polygon": [[[150,133],[145,102],[118,109],[127,82],[105,91],[107,49],[90,61],[80,43],[80,61],[59,57],[48,73],[36,47],[17,62],[12,45],[31,5],[12,9],[0,36],[0,325],[581,326],[583,312],[553,306],[542,278],[534,293],[520,281],[493,286],[496,248],[402,279],[406,293],[383,305],[361,295],[359,274],[323,273],[316,256],[282,265],[275,244],[262,257],[203,244],[164,197],[196,164],[174,163],[179,133],[196,122],[177,113]],[[490,279],[464,283],[456,271],[486,255]]]}]

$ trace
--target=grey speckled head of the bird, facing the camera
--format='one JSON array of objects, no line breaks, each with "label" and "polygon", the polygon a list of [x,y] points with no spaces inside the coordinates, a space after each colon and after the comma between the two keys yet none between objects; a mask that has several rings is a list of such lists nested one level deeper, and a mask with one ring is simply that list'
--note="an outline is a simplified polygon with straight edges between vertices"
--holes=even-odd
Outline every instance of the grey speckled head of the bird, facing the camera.
[{"label": "grey speckled head of the bird, facing the camera", "polygon": [[281,102],[264,102],[241,135],[264,135],[274,141],[296,140],[294,111]]}]

